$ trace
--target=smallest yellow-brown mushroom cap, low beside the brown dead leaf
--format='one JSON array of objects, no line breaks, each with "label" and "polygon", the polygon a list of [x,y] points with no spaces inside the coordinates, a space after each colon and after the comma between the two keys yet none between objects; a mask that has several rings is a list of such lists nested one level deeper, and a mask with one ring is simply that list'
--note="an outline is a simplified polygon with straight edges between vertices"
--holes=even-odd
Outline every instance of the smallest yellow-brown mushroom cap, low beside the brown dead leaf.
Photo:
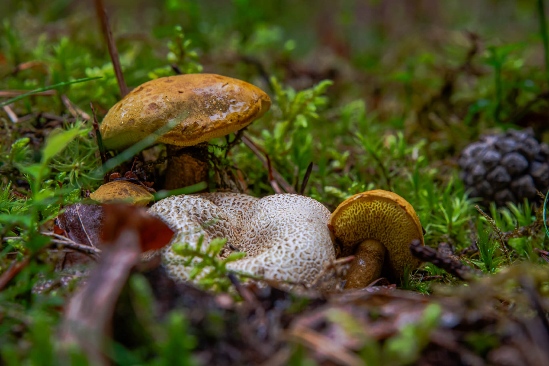
[{"label": "smallest yellow-brown mushroom cap, low beside the brown dead leaf", "polygon": [[126,181],[113,181],[101,185],[89,198],[102,204],[126,202],[137,206],[147,206],[154,196],[141,187]]}]

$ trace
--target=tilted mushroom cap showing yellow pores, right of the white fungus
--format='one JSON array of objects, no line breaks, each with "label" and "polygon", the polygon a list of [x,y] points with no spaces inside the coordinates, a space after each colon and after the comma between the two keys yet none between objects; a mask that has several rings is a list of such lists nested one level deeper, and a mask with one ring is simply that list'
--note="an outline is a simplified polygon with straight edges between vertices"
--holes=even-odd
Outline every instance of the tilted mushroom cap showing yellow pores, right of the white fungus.
[{"label": "tilted mushroom cap showing yellow pores, right of the white fungus", "polygon": [[382,243],[387,250],[385,264],[396,279],[404,275],[406,266],[415,269],[421,264],[410,254],[410,243],[419,239],[424,244],[423,228],[412,205],[396,193],[376,189],[355,194],[335,209],[330,225],[344,256],[363,240]]}]

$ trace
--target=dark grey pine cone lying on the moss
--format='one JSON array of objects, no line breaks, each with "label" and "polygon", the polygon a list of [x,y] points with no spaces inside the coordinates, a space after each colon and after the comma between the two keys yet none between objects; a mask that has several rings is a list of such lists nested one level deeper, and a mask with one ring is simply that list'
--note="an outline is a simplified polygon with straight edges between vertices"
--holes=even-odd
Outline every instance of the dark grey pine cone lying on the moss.
[{"label": "dark grey pine cone lying on the moss", "polygon": [[537,190],[549,189],[549,145],[537,142],[531,128],[481,136],[463,149],[458,164],[470,196],[485,206],[537,200]]}]

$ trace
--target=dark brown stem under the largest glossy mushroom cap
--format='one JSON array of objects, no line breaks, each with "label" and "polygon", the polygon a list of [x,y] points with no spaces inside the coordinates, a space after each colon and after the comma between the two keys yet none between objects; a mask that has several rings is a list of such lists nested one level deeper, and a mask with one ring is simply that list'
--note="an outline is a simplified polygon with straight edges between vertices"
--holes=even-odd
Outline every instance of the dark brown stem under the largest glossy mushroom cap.
[{"label": "dark brown stem under the largest glossy mushroom cap", "polygon": [[[169,158],[164,188],[178,189],[200,182],[208,183],[210,180],[208,162],[201,161],[189,154],[174,155],[178,149],[180,148],[168,145],[167,153]],[[208,192],[208,188],[204,192]]]}]

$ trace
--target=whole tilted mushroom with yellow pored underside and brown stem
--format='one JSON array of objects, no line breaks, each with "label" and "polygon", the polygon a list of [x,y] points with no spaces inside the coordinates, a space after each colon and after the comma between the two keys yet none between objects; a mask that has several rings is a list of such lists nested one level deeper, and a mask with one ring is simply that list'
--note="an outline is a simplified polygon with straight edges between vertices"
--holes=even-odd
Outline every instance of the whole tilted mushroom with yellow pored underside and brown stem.
[{"label": "whole tilted mushroom with yellow pored underside and brown stem", "polygon": [[386,190],[358,193],[335,209],[330,217],[341,255],[355,255],[347,273],[345,288],[366,287],[384,275],[402,278],[406,267],[421,264],[410,253],[410,243],[423,245],[423,228],[412,205]]}]

